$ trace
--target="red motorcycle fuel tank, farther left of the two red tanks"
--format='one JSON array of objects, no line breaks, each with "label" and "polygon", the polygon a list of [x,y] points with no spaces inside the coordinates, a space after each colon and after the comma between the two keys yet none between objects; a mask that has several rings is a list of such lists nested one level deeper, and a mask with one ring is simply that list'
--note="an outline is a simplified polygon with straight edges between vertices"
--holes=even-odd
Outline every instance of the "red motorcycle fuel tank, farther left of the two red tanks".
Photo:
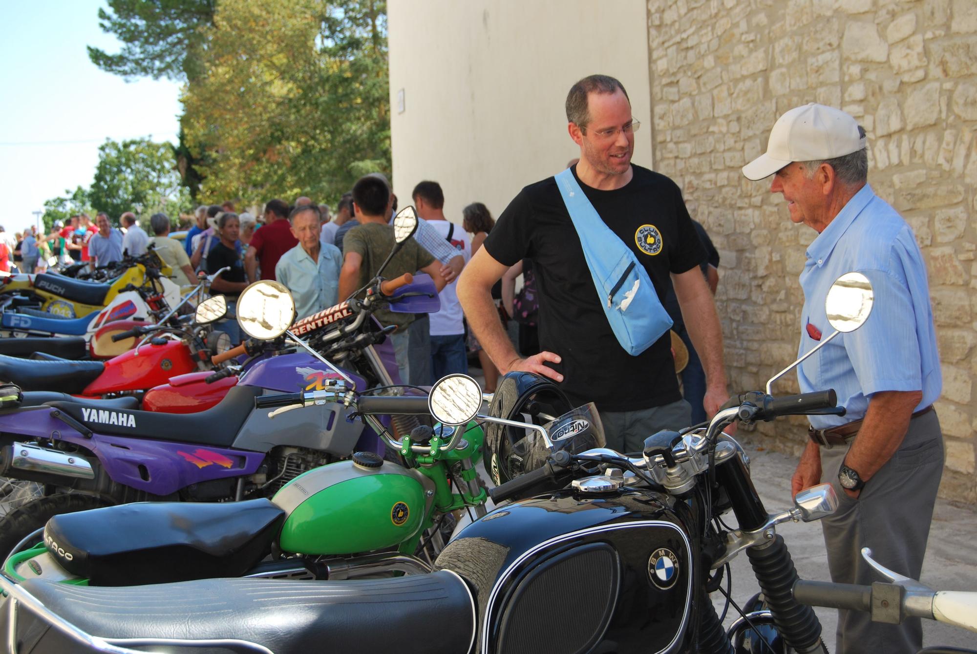
[{"label": "red motorcycle fuel tank, farther left of the two red tanks", "polygon": [[196,370],[190,348],[182,341],[147,343],[106,361],[106,369],[85,388],[85,395],[143,390],[165,384],[171,377]]}]

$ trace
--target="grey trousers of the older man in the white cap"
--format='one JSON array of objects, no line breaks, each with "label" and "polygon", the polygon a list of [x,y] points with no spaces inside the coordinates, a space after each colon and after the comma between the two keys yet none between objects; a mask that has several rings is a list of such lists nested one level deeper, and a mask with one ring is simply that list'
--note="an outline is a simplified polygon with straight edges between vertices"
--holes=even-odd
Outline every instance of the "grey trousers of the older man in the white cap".
[{"label": "grey trousers of the older man in the white cap", "polygon": [[[857,438],[857,436],[856,436]],[[919,579],[933,503],[943,475],[943,433],[936,411],[914,418],[902,445],[871,479],[858,499],[838,484],[838,468],[848,447],[821,448],[821,480],[838,494],[838,510],[822,519],[831,581],[870,585],[885,581],[862,558]],[[871,622],[869,613],[838,611],[838,654],[877,652],[915,654],[922,648],[922,624],[910,618],[901,625]]]}]

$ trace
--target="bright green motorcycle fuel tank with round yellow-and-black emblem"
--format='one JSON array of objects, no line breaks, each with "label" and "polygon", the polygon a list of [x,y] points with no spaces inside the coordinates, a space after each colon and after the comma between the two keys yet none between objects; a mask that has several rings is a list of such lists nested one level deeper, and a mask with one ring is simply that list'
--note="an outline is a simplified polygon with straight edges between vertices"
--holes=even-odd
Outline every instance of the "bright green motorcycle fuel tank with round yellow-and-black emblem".
[{"label": "bright green motorcycle fuel tank with round yellow-and-black emblem", "polygon": [[370,552],[420,531],[427,502],[421,475],[363,454],[300,474],[275,494],[272,502],[287,515],[278,539],[282,552]]}]

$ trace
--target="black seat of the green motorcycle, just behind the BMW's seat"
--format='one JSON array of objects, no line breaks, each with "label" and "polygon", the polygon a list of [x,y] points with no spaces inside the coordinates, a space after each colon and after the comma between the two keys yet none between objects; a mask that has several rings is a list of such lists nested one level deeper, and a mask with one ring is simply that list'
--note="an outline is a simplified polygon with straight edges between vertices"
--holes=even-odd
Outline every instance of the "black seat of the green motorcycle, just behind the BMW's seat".
[{"label": "black seat of the green motorcycle, just behind the BMW's seat", "polygon": [[139,502],[55,515],[44,542],[93,586],[239,577],[271,552],[284,519],[268,499]]}]

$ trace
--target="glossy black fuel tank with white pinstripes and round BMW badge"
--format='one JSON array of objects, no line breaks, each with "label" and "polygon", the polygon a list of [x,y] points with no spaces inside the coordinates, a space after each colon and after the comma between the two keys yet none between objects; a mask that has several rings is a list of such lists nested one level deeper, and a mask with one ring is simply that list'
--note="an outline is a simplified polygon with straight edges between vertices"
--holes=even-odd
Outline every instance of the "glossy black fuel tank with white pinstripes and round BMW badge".
[{"label": "glossy black fuel tank with white pinstripes and round BMW badge", "polygon": [[558,491],[491,511],[435,567],[472,587],[486,654],[685,651],[694,549],[684,513],[650,491]]}]

